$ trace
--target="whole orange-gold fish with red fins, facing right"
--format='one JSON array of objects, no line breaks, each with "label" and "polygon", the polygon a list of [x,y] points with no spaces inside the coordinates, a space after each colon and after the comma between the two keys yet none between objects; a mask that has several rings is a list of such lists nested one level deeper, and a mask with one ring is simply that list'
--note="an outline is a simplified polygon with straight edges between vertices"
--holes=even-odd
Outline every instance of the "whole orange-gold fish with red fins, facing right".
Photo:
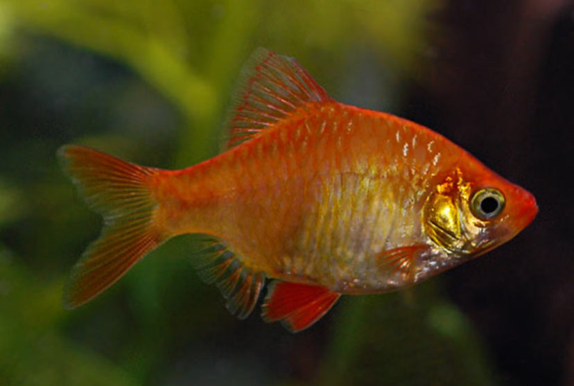
[{"label": "whole orange-gold fish with red fins, facing right", "polygon": [[73,266],[76,308],[181,234],[192,263],[244,319],[297,332],[342,295],[391,292],[507,242],[532,222],[534,196],[441,134],[333,100],[294,59],[256,50],[227,123],[227,149],[181,170],[138,166],[65,145],[61,164],[103,216]]}]

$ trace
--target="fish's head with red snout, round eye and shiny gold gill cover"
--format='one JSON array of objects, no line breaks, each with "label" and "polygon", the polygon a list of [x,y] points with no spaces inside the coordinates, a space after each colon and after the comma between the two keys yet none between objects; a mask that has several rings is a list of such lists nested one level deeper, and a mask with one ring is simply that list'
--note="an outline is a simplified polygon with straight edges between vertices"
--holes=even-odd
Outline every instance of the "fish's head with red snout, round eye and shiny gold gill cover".
[{"label": "fish's head with red snout, round eye and shiny gold gill cover", "polygon": [[424,234],[435,251],[424,264],[428,274],[431,265],[444,270],[507,242],[538,212],[534,196],[524,188],[474,159],[463,165],[442,177],[424,204]]}]

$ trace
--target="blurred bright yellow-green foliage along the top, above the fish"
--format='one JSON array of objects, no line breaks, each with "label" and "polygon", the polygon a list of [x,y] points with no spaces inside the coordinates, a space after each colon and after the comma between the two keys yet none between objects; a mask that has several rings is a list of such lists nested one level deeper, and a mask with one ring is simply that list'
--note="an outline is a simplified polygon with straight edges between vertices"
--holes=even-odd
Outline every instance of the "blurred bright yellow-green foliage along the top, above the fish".
[{"label": "blurred bright yellow-green foliage along the top, above the fish", "polygon": [[366,41],[386,62],[410,67],[430,3],[18,0],[1,7],[4,28],[21,26],[107,55],[168,98],[193,128],[184,134],[177,157],[183,166],[212,154],[213,130],[228,101],[225,91],[254,46],[277,47],[299,60],[322,49],[337,63]]}]

